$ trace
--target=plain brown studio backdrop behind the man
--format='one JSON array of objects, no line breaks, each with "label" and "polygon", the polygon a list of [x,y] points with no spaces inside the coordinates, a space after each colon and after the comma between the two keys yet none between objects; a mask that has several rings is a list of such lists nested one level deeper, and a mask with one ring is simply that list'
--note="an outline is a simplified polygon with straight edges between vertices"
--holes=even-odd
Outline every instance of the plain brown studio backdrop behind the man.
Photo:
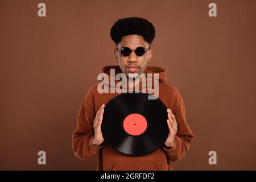
[{"label": "plain brown studio backdrop behind the man", "polygon": [[[47,17],[38,17],[38,3]],[[217,17],[208,16],[210,2]],[[80,104],[104,65],[109,31],[141,16],[156,28],[150,65],[185,101],[195,140],[176,170],[256,169],[256,1],[0,1],[0,169],[94,170],[73,155]],[[47,154],[39,166],[38,151]],[[208,152],[217,152],[209,165]]]}]

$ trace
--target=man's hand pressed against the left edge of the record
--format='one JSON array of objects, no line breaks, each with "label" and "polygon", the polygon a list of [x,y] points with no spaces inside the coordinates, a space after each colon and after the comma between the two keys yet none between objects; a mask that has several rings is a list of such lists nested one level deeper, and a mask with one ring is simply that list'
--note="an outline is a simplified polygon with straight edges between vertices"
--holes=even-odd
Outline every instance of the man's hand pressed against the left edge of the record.
[{"label": "man's hand pressed against the left edge of the record", "polygon": [[103,119],[104,107],[105,105],[102,104],[100,109],[97,111],[96,117],[93,121],[94,138],[92,140],[92,143],[94,144],[94,146],[100,146],[104,142],[104,138],[102,137],[101,133],[101,123]]}]

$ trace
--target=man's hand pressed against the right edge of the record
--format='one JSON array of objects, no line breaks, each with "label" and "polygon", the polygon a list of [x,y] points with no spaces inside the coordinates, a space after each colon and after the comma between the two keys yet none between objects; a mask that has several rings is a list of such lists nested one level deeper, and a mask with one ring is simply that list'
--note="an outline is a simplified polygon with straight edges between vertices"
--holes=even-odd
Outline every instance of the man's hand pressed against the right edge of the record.
[{"label": "man's hand pressed against the right edge of the record", "polygon": [[166,145],[166,147],[174,147],[174,137],[177,132],[177,122],[174,114],[172,114],[171,109],[167,109],[167,116],[167,125],[169,127],[170,132],[164,144]]}]

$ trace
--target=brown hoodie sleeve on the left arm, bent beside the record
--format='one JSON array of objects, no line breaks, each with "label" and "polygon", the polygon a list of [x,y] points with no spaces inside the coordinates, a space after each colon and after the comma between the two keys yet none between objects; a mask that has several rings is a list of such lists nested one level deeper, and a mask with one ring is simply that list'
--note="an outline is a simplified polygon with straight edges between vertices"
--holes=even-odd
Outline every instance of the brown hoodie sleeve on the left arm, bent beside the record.
[{"label": "brown hoodie sleeve on the left arm, bent beside the record", "polygon": [[72,135],[72,148],[77,158],[85,160],[97,155],[105,142],[101,146],[94,146],[92,139],[94,137],[93,120],[96,111],[89,104],[89,94],[86,95],[80,106],[77,116],[77,129]]}]

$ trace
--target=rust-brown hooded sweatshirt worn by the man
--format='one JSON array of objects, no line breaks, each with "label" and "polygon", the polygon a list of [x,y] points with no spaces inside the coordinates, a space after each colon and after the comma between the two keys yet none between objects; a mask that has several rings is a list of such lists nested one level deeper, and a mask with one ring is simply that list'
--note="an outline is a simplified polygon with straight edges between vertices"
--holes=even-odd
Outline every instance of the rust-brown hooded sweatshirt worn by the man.
[{"label": "rust-brown hooded sweatshirt worn by the man", "polygon": [[[109,75],[110,69],[115,69],[115,74],[121,73],[119,66],[102,68],[102,72]],[[77,129],[73,133],[72,147],[77,158],[85,160],[98,155],[97,170],[173,170],[171,162],[183,158],[189,149],[193,134],[185,119],[184,101],[179,91],[166,83],[166,71],[159,67],[147,67],[144,73],[159,73],[159,96],[167,108],[170,108],[177,121],[177,133],[174,138],[174,147],[167,149],[164,146],[151,154],[144,156],[128,156],[113,150],[106,144],[94,146],[93,120],[102,104],[117,96],[118,93],[98,93],[98,83],[93,85],[82,101],[77,117]],[[118,81],[115,81],[117,84]],[[105,83],[108,85],[107,83]],[[108,85],[110,86],[110,85]],[[140,87],[141,88],[141,87]],[[103,115],[104,117],[104,115]]]}]

